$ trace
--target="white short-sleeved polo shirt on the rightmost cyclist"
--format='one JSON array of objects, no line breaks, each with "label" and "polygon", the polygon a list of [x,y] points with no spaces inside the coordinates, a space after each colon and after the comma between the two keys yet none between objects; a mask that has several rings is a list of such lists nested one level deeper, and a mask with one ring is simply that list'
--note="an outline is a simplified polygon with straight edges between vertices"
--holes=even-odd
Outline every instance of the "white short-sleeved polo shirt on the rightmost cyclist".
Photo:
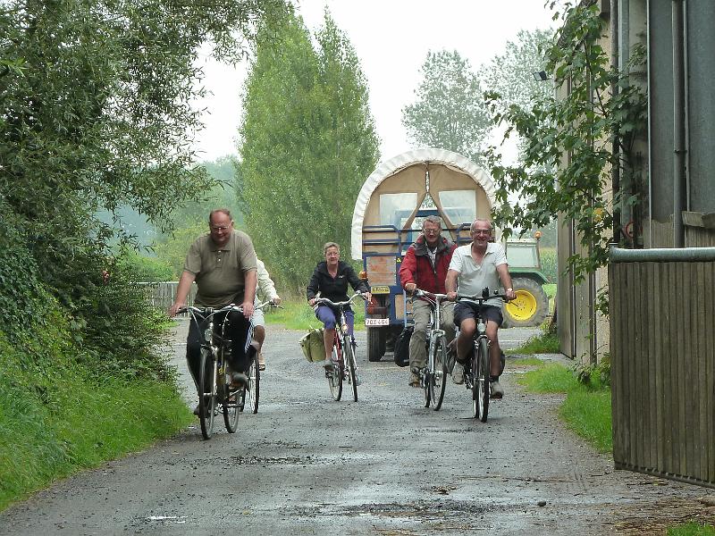
[{"label": "white short-sleeved polo shirt on the rightmost cyclist", "polygon": [[[460,296],[482,296],[482,289],[488,287],[491,293],[499,290],[501,283],[497,266],[507,264],[507,254],[501,244],[489,242],[482,264],[476,264],[472,257],[472,244],[460,246],[454,250],[450,262],[450,270],[459,272],[457,278],[457,293]],[[486,305],[501,307],[501,297],[492,297],[484,302]]]}]

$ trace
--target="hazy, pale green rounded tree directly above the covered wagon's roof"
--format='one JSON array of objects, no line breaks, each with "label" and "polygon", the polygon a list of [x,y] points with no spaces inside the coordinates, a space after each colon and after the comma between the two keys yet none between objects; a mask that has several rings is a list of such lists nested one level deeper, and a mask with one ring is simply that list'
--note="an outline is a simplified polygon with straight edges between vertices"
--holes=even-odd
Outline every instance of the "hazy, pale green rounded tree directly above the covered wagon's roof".
[{"label": "hazy, pale green rounded tree directly above the covered wagon's roof", "polygon": [[490,130],[483,89],[469,61],[455,50],[428,52],[416,102],[402,109],[402,124],[417,146],[440,147],[482,161]]}]

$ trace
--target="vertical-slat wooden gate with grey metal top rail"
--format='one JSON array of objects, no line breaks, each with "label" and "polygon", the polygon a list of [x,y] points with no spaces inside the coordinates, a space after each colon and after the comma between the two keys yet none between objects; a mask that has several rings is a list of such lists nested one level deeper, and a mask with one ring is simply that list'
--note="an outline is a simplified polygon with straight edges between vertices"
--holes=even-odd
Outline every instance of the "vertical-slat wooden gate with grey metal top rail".
[{"label": "vertical-slat wooden gate with grey metal top rail", "polygon": [[617,469],[715,487],[715,247],[610,255]]}]

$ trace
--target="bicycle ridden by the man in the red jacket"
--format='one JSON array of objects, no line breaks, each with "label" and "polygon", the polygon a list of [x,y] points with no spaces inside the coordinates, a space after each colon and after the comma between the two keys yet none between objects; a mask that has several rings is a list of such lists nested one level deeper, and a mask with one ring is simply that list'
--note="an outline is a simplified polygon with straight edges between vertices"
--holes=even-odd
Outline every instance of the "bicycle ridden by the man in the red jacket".
[{"label": "bicycle ridden by the man in the red jacket", "polygon": [[415,289],[413,297],[424,297],[432,306],[427,330],[427,366],[420,370],[418,376],[420,385],[425,390],[425,407],[432,405],[433,410],[438,411],[442,407],[446,379],[450,374],[447,364],[447,343],[440,318],[442,313],[440,306],[447,299],[447,295]]}]

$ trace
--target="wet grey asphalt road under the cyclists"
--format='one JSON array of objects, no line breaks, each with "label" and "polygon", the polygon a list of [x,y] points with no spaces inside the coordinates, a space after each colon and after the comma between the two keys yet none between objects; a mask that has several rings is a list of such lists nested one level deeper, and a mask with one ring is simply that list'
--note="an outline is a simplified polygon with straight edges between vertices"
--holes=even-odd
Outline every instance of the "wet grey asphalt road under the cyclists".
[{"label": "wet grey asphalt road under the cyclists", "polygon": [[[185,327],[174,343],[184,381]],[[534,332],[502,331],[502,344]],[[480,423],[452,383],[442,409],[426,409],[408,369],[391,356],[366,361],[364,331],[359,400],[334,402],[300,335],[269,326],[259,411],[241,415],[236,434],[219,420],[205,441],[197,422],[9,508],[0,534],[662,533],[648,527],[694,511],[707,493],[614,472],[559,423],[559,396],[517,386],[524,370],[510,359],[506,396]],[[192,386],[184,395],[196,403]]]}]

